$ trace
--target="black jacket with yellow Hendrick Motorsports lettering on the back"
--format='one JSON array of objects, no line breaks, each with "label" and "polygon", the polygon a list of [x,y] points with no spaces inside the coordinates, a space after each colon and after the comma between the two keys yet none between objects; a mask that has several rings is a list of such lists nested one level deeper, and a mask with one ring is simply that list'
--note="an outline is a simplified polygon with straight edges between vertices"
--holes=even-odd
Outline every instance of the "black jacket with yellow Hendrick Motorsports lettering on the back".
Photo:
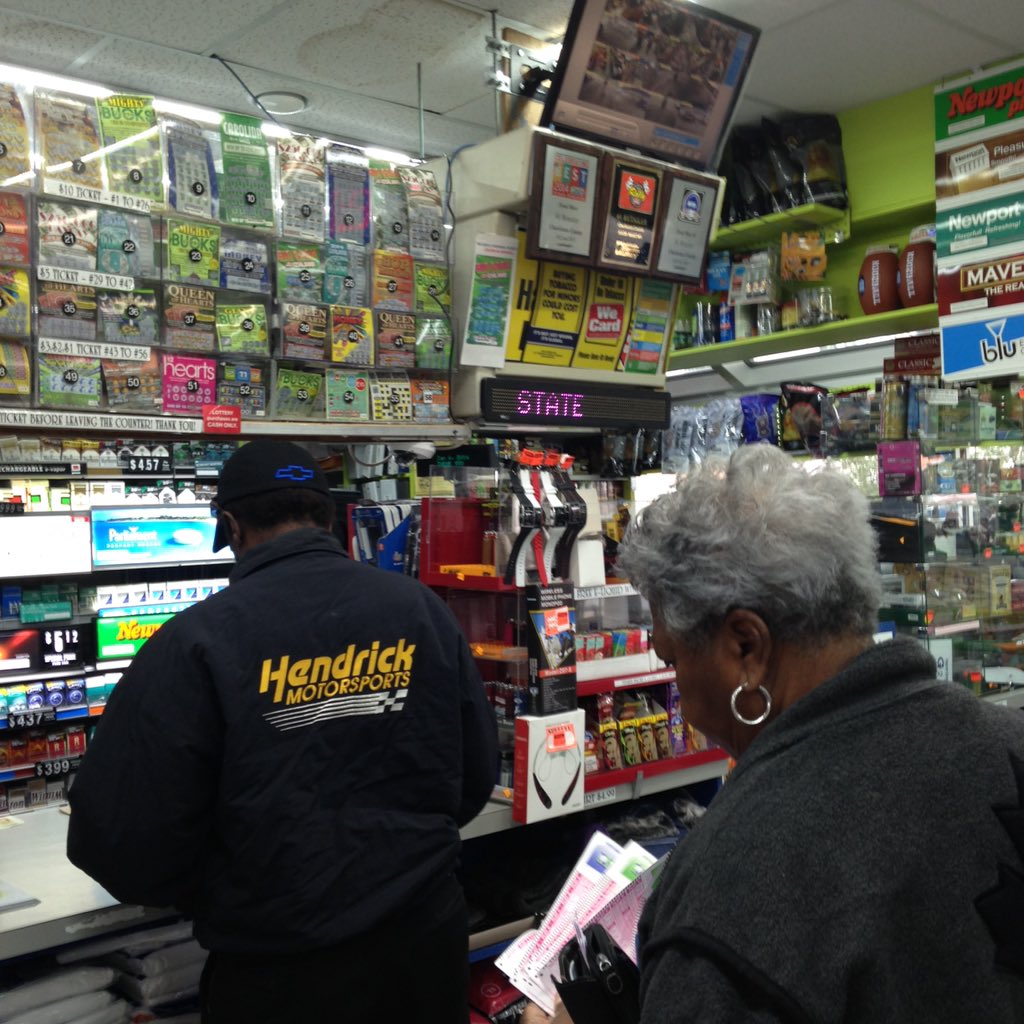
[{"label": "black jacket with yellow Hendrick Motorsports lettering on the back", "polygon": [[446,877],[496,764],[444,604],[297,529],[141,648],[71,788],[68,854],[208,948],[301,951]]}]

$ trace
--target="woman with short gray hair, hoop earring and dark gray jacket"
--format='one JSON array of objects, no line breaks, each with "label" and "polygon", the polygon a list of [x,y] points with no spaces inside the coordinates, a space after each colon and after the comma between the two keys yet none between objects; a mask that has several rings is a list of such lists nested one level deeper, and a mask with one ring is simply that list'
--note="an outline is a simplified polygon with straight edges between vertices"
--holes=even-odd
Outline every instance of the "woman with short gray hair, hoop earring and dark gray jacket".
[{"label": "woman with short gray hair, hoop earring and dark gray jacket", "polygon": [[737,758],[645,909],[643,1024],[1024,1021],[1024,716],[874,642],[865,499],[750,445],[644,509],[620,565]]}]

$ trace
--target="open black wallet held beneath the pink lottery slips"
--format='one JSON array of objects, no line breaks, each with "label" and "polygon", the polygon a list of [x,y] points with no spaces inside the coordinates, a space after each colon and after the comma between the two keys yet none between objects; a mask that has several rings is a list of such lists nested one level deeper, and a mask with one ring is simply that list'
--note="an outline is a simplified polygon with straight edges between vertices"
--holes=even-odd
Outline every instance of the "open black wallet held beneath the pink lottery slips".
[{"label": "open black wallet held beneath the pink lottery slips", "polygon": [[555,988],[569,1016],[586,1024],[638,1024],[640,972],[601,925],[588,925],[558,956]]}]

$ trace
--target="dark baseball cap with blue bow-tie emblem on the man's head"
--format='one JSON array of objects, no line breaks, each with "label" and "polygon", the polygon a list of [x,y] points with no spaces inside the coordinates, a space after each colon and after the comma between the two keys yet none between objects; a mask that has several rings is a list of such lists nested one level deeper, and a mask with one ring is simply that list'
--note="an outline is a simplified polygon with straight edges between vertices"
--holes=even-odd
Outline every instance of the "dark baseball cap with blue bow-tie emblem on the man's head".
[{"label": "dark baseball cap with blue bow-tie emblem on the man's head", "polygon": [[[289,488],[331,494],[324,471],[304,447],[292,441],[260,438],[243,444],[221,467],[215,501],[220,508],[226,508],[241,498]],[[213,550],[220,551],[228,540],[221,520],[214,534]]]}]

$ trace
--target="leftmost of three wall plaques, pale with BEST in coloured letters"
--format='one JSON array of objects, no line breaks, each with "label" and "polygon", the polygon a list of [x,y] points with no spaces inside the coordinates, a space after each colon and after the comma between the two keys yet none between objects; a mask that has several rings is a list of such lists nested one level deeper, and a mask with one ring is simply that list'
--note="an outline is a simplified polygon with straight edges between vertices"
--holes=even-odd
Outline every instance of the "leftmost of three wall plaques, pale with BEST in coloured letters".
[{"label": "leftmost of three wall plaques, pale with BEST in coloured letters", "polygon": [[593,264],[600,167],[600,150],[574,139],[535,133],[527,256]]}]

